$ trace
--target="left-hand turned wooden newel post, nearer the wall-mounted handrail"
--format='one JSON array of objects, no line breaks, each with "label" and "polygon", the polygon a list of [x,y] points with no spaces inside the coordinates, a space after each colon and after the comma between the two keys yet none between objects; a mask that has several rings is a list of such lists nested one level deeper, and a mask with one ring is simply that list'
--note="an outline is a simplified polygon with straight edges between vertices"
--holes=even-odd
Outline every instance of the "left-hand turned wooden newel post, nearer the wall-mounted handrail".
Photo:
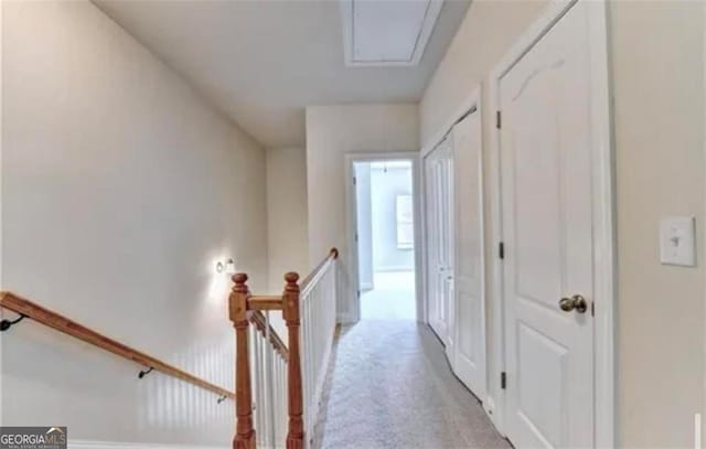
[{"label": "left-hand turned wooden newel post, nearer the wall-mounted handrail", "polygon": [[245,282],[247,275],[233,276],[235,286],[228,298],[231,321],[235,327],[235,414],[236,432],[233,449],[255,449],[255,429],[253,428],[253,393],[250,391],[250,366],[247,343],[247,298],[249,291]]}]

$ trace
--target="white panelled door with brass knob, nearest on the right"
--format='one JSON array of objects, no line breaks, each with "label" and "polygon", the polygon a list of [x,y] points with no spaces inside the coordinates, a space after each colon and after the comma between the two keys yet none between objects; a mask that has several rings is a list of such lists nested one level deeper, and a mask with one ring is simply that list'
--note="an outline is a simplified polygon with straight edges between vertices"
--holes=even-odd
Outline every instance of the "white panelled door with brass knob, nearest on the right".
[{"label": "white panelled door with brass knob, nearest on the right", "polygon": [[499,86],[506,434],[518,448],[593,446],[587,9],[571,7]]}]

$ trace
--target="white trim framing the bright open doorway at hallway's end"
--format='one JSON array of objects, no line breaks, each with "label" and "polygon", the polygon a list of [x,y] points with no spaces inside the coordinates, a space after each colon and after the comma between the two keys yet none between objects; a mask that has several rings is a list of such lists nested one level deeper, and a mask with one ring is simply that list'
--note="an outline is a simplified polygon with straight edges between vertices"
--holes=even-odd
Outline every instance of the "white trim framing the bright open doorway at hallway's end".
[{"label": "white trim framing the bright open doorway at hallway's end", "polygon": [[[411,162],[411,195],[414,207],[414,231],[415,231],[415,307],[416,320],[424,322],[426,320],[426,298],[421,295],[424,291],[424,280],[421,275],[422,249],[421,249],[421,207],[420,207],[420,177],[419,177],[419,152],[417,151],[387,151],[387,152],[350,152],[345,154],[345,234],[349,244],[350,258],[347,264],[351,268],[353,290],[357,291],[359,281],[359,254],[357,244],[355,243],[355,232],[357,229],[357,207],[355,189],[353,189],[353,164],[355,162],[375,162],[381,160],[403,160]],[[351,323],[361,319],[361,302],[353,298],[356,307],[346,308],[346,313],[339,312],[339,322]]]}]

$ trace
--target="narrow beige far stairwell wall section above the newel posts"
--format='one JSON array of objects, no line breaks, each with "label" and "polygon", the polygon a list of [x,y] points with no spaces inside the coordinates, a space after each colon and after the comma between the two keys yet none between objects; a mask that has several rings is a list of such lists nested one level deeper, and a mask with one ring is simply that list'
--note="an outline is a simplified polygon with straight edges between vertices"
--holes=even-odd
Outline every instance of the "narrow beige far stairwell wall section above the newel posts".
[{"label": "narrow beige far stairwell wall section above the newel posts", "polygon": [[307,150],[267,150],[267,247],[269,289],[281,293],[284,275],[309,272]]}]

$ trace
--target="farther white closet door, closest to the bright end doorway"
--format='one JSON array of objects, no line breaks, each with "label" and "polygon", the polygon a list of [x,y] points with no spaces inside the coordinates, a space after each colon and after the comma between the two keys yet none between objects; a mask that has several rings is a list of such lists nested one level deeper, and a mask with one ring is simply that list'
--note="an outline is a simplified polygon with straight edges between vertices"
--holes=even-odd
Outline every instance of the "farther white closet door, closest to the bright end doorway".
[{"label": "farther white closet door, closest to the bright end doorway", "polygon": [[425,158],[427,224],[427,300],[429,325],[447,344],[449,297],[452,293],[453,267],[449,204],[451,189],[451,151],[445,141]]}]

